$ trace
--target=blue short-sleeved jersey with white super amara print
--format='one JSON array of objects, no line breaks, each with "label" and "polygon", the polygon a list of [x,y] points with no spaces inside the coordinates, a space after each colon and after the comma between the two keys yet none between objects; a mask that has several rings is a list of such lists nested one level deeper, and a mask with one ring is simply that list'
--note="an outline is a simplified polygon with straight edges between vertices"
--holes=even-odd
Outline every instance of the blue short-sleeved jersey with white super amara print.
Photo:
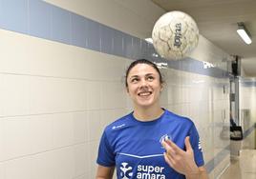
[{"label": "blue short-sleeved jersey with white super amara print", "polygon": [[199,134],[193,122],[166,109],[160,118],[138,121],[130,113],[104,130],[98,149],[97,164],[116,167],[117,179],[180,179],[184,175],[165,161],[161,141],[169,138],[185,150],[184,139],[190,136],[195,162],[203,166]]}]

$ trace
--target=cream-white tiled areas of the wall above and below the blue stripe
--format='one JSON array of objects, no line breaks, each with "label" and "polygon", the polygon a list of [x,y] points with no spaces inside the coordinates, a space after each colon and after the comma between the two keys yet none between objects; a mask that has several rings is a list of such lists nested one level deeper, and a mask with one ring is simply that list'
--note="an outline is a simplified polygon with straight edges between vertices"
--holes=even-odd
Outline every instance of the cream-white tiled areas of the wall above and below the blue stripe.
[{"label": "cream-white tiled areas of the wall above and below the blue stripe", "polygon": [[[47,2],[140,38],[164,12],[147,0]],[[0,178],[94,178],[102,130],[132,109],[122,81],[131,61],[8,30],[0,39]],[[218,65],[227,55],[201,36],[190,56]],[[227,82],[163,72],[161,104],[194,121],[207,163],[228,145],[215,126],[228,109],[219,88]]]}]

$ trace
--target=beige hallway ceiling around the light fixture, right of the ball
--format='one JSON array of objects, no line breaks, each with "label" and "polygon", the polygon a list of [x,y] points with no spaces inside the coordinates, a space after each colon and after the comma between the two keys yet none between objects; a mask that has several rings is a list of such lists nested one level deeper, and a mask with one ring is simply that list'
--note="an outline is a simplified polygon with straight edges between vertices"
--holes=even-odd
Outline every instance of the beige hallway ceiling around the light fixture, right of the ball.
[{"label": "beige hallway ceiling around the light fixture, right of the ball", "polygon": [[[247,76],[256,77],[256,1],[255,0],[152,0],[160,8],[190,14],[205,38],[231,55],[242,58]],[[237,23],[244,22],[252,43],[238,36]]]}]

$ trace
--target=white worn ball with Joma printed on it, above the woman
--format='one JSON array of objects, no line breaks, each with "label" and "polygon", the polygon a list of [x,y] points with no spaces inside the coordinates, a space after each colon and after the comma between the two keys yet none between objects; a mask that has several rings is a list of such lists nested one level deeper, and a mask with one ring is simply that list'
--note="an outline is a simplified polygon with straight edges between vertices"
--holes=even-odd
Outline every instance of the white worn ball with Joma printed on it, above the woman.
[{"label": "white worn ball with Joma printed on it, above the woman", "polygon": [[161,57],[179,60],[197,47],[199,30],[190,15],[175,10],[160,16],[152,31],[152,39]]}]

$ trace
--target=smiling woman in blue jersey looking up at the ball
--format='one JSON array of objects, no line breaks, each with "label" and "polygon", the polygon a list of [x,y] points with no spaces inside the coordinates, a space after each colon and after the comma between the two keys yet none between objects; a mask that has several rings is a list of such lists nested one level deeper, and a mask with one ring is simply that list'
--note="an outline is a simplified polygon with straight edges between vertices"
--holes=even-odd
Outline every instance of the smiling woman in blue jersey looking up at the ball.
[{"label": "smiling woman in blue jersey looking up at the ball", "polygon": [[145,59],[126,71],[126,89],[134,111],[104,130],[96,179],[205,179],[203,152],[193,122],[160,108],[163,80]]}]

